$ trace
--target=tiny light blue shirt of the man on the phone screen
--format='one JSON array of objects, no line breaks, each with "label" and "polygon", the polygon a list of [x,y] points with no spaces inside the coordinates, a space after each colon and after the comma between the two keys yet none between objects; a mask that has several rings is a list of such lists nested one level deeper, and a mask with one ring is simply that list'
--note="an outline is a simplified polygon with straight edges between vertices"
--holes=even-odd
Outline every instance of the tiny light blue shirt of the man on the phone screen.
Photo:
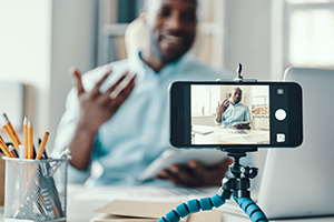
[{"label": "tiny light blue shirt of the man on the phone screen", "polygon": [[223,123],[223,128],[232,128],[233,123],[244,121],[250,121],[248,107],[243,103],[229,103],[227,110],[222,114],[222,122],[216,121],[216,124],[220,125]]}]

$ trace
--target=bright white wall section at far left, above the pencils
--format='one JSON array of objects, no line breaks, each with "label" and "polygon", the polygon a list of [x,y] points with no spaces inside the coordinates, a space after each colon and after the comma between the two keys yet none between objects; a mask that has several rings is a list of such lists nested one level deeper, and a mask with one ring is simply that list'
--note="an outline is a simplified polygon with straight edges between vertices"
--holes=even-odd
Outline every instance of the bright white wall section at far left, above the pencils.
[{"label": "bright white wall section at far left, above the pencils", "polygon": [[49,130],[50,24],[50,0],[0,0],[0,81],[33,87],[29,118],[37,137]]}]

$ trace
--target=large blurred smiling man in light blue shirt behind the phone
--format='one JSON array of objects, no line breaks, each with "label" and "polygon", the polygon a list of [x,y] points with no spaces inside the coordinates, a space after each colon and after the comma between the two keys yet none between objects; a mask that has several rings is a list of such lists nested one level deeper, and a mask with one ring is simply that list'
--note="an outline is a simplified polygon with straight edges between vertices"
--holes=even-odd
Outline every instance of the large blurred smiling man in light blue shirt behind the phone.
[{"label": "large blurred smiling man in light blue shirt behind the phone", "polygon": [[[78,84],[68,94],[55,148],[55,153],[71,149],[71,182],[84,183],[96,162],[102,171],[95,175],[95,184],[134,183],[150,162],[170,149],[168,85],[229,78],[229,72],[186,56],[196,34],[196,0],[147,0],[145,6],[147,48],[82,77],[71,70]],[[219,185],[229,163],[229,159],[222,160],[213,168],[190,161],[171,165],[157,178],[189,186]]]}]

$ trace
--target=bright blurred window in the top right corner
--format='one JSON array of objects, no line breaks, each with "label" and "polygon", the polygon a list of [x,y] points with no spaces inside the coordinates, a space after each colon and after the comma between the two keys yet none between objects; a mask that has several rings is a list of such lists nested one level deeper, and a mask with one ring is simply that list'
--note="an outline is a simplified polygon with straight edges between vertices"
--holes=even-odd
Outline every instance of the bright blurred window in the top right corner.
[{"label": "bright blurred window in the top right corner", "polygon": [[334,67],[334,2],[287,0],[288,62]]}]

